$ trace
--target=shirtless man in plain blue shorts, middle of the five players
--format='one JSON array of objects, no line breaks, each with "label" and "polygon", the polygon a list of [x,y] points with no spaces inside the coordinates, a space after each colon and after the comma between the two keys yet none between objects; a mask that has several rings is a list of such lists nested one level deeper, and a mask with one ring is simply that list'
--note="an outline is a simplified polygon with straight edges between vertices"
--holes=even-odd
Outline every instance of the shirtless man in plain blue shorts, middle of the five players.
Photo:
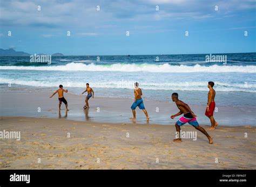
[{"label": "shirtless man in plain blue shorts, middle of the five players", "polygon": [[130,119],[136,119],[136,112],[135,109],[137,106],[139,106],[139,109],[142,109],[143,112],[146,115],[147,121],[149,121],[149,115],[147,115],[147,111],[145,109],[145,106],[143,104],[143,100],[142,100],[142,89],[139,88],[139,83],[134,83],[134,103],[131,106],[132,109],[132,114],[133,114],[133,118]]}]

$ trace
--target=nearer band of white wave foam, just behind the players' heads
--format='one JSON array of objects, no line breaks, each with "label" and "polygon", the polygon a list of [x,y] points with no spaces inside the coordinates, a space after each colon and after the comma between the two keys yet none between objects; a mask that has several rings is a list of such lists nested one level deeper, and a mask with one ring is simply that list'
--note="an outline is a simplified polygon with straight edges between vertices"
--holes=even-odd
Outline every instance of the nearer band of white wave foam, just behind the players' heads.
[{"label": "nearer band of white wave foam, just behind the players' heads", "polygon": [[[49,80],[21,80],[12,78],[0,78],[0,84],[18,84],[32,87],[56,87],[58,81]],[[85,88],[84,82],[78,81],[62,81],[65,87]],[[118,88],[118,89],[134,89],[133,82],[129,81],[107,81],[107,82],[91,82],[93,88]],[[140,83],[140,87],[144,90],[181,90],[181,91],[208,91],[207,82],[171,82],[171,83]],[[256,92],[256,84],[228,84],[223,82],[215,82],[214,86],[217,91],[243,91]]]}]

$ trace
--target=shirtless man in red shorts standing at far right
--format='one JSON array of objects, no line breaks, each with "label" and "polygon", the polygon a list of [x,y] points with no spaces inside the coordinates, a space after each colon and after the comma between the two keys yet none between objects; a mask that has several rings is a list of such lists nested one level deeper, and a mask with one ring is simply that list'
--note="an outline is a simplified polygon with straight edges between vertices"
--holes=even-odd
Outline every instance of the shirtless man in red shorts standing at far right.
[{"label": "shirtless man in red shorts standing at far right", "polygon": [[208,82],[208,102],[207,102],[207,107],[205,110],[205,116],[207,116],[211,120],[211,127],[209,128],[210,130],[214,130],[215,127],[218,126],[218,123],[215,121],[213,118],[213,112],[215,110],[215,90],[213,89],[214,82],[210,81]]}]

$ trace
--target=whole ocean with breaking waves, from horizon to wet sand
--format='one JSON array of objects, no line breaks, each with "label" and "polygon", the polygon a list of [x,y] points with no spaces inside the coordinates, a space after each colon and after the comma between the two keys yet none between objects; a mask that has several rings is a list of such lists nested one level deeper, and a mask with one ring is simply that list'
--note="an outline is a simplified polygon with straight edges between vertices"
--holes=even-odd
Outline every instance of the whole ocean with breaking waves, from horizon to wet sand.
[{"label": "whole ocean with breaking waves, from horizon to wet sand", "polygon": [[38,91],[62,84],[78,95],[90,83],[96,97],[133,98],[138,82],[146,100],[170,101],[178,92],[188,104],[206,105],[208,81],[215,83],[218,106],[255,108],[256,53],[51,56],[50,64],[30,62],[30,56],[0,56],[2,91],[8,85]]}]

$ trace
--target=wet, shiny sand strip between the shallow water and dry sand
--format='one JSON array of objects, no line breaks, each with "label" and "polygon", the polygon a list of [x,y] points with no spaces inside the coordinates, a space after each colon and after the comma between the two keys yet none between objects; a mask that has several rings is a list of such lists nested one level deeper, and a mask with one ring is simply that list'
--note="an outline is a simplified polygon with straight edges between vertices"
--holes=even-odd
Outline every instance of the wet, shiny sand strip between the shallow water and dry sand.
[{"label": "wet, shiny sand strip between the shallow water and dry sand", "polygon": [[[116,97],[90,98],[89,110],[84,110],[85,95],[65,93],[70,111],[58,111],[58,97],[49,98],[52,91],[0,91],[0,116],[65,118],[76,121],[91,121],[97,123],[136,123],[147,124],[142,110],[136,109],[136,120],[132,117],[131,105],[133,99]],[[182,100],[182,99],[181,99]],[[185,101],[185,100],[184,100]],[[186,102],[186,101],[185,101]],[[210,120],[205,116],[206,106],[190,105],[198,116],[200,124],[209,125]],[[181,116],[171,119],[178,112],[176,104],[171,99],[167,102],[144,99],[144,105],[149,113],[149,124],[173,125]],[[62,109],[65,109],[62,104]],[[214,118],[220,126],[256,126],[254,108],[218,106]]]}]

